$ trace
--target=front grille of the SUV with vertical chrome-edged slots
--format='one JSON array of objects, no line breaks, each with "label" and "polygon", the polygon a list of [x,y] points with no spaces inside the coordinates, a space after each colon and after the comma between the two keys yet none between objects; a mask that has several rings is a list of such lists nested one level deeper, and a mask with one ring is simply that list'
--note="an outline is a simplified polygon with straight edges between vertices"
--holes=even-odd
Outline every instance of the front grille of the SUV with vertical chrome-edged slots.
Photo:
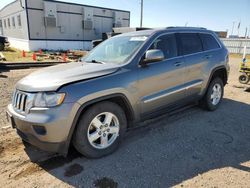
[{"label": "front grille of the SUV with vertical chrome-edged slots", "polygon": [[25,112],[27,99],[28,95],[26,93],[16,91],[13,97],[13,107],[20,112]]}]

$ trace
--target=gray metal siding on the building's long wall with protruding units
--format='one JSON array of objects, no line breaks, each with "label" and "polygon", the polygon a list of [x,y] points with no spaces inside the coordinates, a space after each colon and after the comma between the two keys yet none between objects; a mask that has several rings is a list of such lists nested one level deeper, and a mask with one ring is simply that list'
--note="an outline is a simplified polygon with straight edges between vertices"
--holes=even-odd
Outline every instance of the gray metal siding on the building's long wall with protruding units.
[{"label": "gray metal siding on the building's long wall with protruding units", "polygon": [[[52,3],[52,2],[51,2]],[[113,27],[113,14],[119,12],[105,8],[88,7],[84,5],[69,5],[54,2],[57,6],[57,26],[49,28],[44,26],[43,1],[28,0],[29,23],[31,39],[65,39],[65,40],[95,40],[102,37],[102,33],[111,32]],[[37,10],[40,9],[40,10]],[[82,21],[84,20],[84,9],[93,11],[93,29],[84,30]],[[129,12],[122,12],[123,27],[129,26]],[[42,24],[41,24],[42,23]],[[63,31],[61,32],[61,27]]]}]

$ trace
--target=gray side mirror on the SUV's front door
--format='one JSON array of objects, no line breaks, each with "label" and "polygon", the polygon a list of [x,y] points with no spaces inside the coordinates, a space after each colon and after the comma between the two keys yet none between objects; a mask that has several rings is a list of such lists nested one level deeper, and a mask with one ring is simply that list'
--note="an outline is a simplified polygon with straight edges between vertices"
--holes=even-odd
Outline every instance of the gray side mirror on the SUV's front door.
[{"label": "gray side mirror on the SUV's front door", "polygon": [[154,63],[164,60],[164,54],[161,50],[148,50],[145,55],[145,59],[142,60],[141,65],[146,65],[148,63]]}]

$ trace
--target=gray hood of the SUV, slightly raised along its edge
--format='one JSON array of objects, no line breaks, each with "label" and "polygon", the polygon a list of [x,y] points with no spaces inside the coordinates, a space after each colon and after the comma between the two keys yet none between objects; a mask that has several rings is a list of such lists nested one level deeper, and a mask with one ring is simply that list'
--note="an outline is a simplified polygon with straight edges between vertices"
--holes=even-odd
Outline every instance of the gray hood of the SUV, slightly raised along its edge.
[{"label": "gray hood of the SUV, slightly raised along its edge", "polygon": [[21,79],[16,89],[27,92],[56,91],[64,84],[108,75],[120,65],[74,62],[40,69]]}]

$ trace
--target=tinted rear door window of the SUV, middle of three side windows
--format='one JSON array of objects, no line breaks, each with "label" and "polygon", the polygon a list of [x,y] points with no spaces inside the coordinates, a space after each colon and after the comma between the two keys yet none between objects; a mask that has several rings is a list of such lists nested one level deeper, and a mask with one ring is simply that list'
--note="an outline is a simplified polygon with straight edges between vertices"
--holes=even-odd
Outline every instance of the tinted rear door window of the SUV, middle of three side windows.
[{"label": "tinted rear door window of the SUV, middle of three side windows", "polygon": [[197,33],[180,33],[180,43],[182,46],[182,54],[188,55],[197,52],[202,52],[202,43]]}]

